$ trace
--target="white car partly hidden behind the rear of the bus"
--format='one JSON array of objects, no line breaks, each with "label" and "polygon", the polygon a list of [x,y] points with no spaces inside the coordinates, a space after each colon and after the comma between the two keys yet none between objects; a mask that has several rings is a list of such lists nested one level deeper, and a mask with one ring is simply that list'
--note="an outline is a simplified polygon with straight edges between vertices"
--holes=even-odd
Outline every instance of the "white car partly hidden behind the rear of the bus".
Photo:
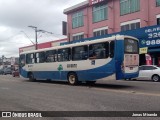
[{"label": "white car partly hidden behind the rear of the bus", "polygon": [[160,67],[155,65],[142,65],[139,67],[139,80],[160,81]]}]

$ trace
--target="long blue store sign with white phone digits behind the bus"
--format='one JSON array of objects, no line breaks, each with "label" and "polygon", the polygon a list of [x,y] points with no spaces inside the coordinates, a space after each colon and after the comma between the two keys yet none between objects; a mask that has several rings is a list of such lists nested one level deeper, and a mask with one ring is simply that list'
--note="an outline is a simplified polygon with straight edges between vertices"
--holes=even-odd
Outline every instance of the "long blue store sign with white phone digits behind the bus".
[{"label": "long blue store sign with white phone digits behind the bus", "polygon": [[160,47],[160,25],[143,27],[143,28],[123,31],[123,32],[117,32],[117,33],[107,34],[107,35],[99,36],[99,37],[86,38],[83,40],[75,40],[75,41],[72,41],[71,43],[90,41],[94,39],[100,39],[103,37],[111,37],[115,35],[128,35],[128,36],[136,37],[137,39],[139,39],[140,48]]}]

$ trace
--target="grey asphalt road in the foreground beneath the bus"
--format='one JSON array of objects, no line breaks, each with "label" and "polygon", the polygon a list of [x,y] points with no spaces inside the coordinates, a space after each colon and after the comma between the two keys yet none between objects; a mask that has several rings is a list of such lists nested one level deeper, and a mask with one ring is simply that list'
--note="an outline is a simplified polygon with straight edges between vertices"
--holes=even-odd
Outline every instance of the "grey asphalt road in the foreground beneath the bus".
[{"label": "grey asphalt road in the foreground beneath the bus", "polygon": [[160,82],[108,80],[70,86],[0,75],[0,111],[160,111]]}]

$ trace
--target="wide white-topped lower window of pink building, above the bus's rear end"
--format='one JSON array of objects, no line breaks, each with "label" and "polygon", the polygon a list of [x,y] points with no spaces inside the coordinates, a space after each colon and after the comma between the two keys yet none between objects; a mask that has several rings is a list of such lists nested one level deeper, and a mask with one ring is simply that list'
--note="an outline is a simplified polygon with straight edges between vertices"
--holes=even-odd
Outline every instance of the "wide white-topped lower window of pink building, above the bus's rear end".
[{"label": "wide white-topped lower window of pink building, above the bus's rear end", "polygon": [[140,28],[140,20],[121,23],[121,31],[134,30],[138,28]]}]

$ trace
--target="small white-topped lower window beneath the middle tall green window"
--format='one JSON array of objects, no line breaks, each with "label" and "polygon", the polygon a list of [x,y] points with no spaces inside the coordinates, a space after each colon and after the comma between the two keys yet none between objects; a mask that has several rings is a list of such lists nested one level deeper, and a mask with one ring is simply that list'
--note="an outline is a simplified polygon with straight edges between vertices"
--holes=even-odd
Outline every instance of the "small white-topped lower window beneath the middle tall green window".
[{"label": "small white-topped lower window beneath the middle tall green window", "polygon": [[108,34],[108,28],[107,27],[93,30],[93,36],[94,37],[102,36],[102,35],[106,35],[106,34]]}]

